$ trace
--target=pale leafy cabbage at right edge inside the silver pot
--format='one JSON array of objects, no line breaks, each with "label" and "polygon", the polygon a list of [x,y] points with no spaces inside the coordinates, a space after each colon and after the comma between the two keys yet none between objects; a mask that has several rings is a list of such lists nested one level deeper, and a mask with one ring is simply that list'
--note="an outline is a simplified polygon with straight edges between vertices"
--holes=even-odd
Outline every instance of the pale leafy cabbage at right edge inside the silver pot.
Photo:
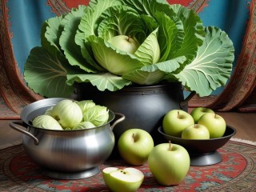
[{"label": "pale leafy cabbage at right edge inside the silver pot", "polygon": [[94,126],[102,126],[109,119],[109,110],[106,106],[95,105],[83,114],[84,122],[92,122]]}]

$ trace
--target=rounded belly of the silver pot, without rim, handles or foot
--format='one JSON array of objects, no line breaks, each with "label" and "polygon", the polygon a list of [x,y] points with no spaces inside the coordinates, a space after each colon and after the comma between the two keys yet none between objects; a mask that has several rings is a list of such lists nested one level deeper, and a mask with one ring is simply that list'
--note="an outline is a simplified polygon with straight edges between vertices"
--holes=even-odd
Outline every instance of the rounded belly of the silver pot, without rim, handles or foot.
[{"label": "rounded belly of the silver pot, without rim, handles or foot", "polygon": [[28,126],[27,131],[38,138],[23,134],[26,153],[38,165],[60,172],[79,172],[101,165],[114,147],[110,125],[79,131],[42,130]]}]

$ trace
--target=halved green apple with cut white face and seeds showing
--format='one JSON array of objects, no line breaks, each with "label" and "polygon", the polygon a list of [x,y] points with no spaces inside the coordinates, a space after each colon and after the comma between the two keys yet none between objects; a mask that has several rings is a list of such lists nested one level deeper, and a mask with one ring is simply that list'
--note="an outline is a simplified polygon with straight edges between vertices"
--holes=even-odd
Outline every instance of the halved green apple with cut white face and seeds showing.
[{"label": "halved green apple with cut white face and seeds showing", "polygon": [[123,170],[117,167],[107,167],[102,170],[102,176],[106,186],[114,192],[134,192],[144,180],[142,171],[132,167]]}]

